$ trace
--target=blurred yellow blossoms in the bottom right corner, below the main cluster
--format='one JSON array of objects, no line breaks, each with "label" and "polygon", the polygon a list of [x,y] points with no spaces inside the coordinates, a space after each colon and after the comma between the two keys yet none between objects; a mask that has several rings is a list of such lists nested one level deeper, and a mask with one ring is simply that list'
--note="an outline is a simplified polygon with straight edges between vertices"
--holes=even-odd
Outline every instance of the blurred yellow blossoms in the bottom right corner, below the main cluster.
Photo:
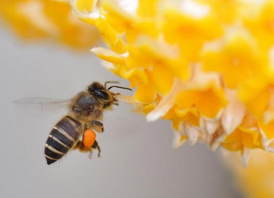
[{"label": "blurred yellow blossoms in the bottom right corner, below the main cluster", "polygon": [[240,165],[239,155],[225,154],[225,161],[234,171],[235,179],[243,192],[250,198],[274,197],[274,154],[259,149],[250,151],[246,168]]}]

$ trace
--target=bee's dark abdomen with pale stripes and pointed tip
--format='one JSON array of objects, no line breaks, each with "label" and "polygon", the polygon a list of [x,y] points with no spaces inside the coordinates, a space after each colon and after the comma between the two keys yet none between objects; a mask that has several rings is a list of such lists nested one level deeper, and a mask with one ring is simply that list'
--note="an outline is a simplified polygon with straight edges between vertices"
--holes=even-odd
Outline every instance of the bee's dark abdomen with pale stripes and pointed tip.
[{"label": "bee's dark abdomen with pale stripes and pointed tip", "polygon": [[47,164],[61,159],[74,146],[81,134],[81,123],[70,116],[63,117],[51,130],[46,146]]}]

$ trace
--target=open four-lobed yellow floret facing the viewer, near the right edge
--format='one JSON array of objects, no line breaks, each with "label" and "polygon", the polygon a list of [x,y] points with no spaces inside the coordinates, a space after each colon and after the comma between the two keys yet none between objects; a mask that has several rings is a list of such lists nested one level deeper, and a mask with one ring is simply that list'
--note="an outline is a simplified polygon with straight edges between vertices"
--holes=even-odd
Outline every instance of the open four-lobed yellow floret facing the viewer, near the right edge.
[{"label": "open four-lobed yellow floret facing the viewer, near the right edge", "polygon": [[214,48],[204,50],[203,68],[220,72],[229,88],[237,89],[254,74],[260,75],[267,67],[255,39],[246,31],[228,30],[220,46]]}]

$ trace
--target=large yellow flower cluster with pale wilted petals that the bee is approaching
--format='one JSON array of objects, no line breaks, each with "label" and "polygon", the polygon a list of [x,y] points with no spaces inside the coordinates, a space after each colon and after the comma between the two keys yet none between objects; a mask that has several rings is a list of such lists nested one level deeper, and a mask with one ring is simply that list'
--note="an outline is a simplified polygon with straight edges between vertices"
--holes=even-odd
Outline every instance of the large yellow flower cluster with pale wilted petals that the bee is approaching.
[{"label": "large yellow flower cluster with pale wilted petals that the bee is approaching", "polygon": [[126,101],[172,121],[174,147],[222,145],[244,165],[274,151],[274,1],[71,2],[109,47],[91,51],[136,87]]}]

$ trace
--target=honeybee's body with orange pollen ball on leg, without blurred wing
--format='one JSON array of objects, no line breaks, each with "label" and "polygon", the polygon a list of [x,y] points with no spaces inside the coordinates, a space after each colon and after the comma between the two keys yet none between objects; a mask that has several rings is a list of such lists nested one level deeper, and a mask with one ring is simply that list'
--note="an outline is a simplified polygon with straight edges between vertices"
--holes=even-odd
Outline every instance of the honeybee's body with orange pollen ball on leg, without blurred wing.
[{"label": "honeybee's body with orange pollen ball on leg, without blurred wing", "polygon": [[104,86],[93,82],[70,100],[69,113],[53,127],[47,138],[44,154],[48,165],[60,160],[71,149],[79,149],[82,152],[97,149],[100,156],[101,150],[93,130],[103,132],[103,112],[112,109],[113,105],[118,105],[115,96],[119,93],[109,90],[114,87],[131,90],[119,86],[107,88],[107,83],[118,82],[105,82]]}]

